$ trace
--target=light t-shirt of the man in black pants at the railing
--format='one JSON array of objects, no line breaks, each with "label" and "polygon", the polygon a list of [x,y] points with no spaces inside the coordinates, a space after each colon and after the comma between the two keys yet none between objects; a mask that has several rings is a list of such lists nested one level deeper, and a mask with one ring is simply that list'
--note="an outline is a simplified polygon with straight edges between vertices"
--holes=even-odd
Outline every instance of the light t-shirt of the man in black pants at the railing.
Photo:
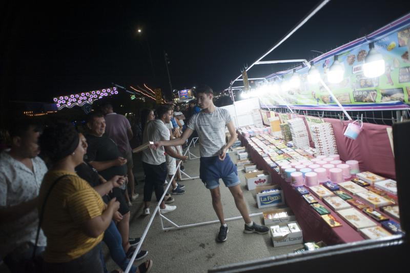
[{"label": "light t-shirt of the man in black pants at the railing", "polygon": [[[147,123],[142,136],[142,143],[149,141],[170,140],[170,130],[161,120],[153,120]],[[142,162],[159,165],[165,162],[165,150],[163,146],[158,149],[145,149],[142,151]]]}]

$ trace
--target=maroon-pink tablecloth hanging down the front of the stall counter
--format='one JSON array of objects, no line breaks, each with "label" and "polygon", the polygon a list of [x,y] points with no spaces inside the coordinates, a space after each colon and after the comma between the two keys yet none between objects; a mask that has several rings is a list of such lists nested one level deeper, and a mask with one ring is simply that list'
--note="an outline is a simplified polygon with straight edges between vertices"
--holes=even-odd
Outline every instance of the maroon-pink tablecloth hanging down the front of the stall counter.
[{"label": "maroon-pink tablecloth hanging down the front of the stall counter", "polygon": [[286,183],[280,175],[262,159],[261,155],[248,144],[248,141],[239,133],[238,135],[242,145],[247,147],[252,161],[258,165],[258,168],[268,171],[272,176],[273,183],[281,185],[286,205],[293,210],[296,216],[296,221],[302,228],[303,241],[323,241],[327,245],[335,245],[364,240],[356,229],[344,222],[336,212],[327,207],[323,202],[319,201],[319,203],[331,211],[332,215],[342,224],[342,226],[334,228],[327,225],[320,215],[304,201],[300,194],[294,190],[289,183]]}]

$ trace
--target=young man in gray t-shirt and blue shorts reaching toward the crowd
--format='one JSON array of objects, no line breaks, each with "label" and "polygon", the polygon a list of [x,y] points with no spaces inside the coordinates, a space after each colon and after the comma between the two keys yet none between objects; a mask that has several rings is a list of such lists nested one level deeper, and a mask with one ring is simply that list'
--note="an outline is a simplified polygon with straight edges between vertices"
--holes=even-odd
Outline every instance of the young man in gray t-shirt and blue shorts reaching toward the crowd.
[{"label": "young man in gray t-shirt and blue shorts reaching toward the crowd", "polygon": [[[198,105],[202,109],[194,114],[188,122],[187,129],[181,138],[170,141],[157,141],[153,148],[159,149],[161,146],[176,146],[185,143],[194,130],[198,132],[200,147],[200,168],[199,177],[203,184],[211,191],[212,205],[221,223],[218,236],[219,242],[227,240],[228,225],[223,217],[223,208],[219,192],[219,179],[229,188],[235,199],[236,207],[245,221],[245,233],[268,233],[269,228],[257,225],[249,217],[247,205],[243,199],[240,188],[238,171],[232,163],[227,150],[236,141],[237,135],[231,116],[226,109],[218,108],[214,105],[213,90],[206,85],[196,88]],[[225,143],[225,128],[228,127],[231,138]]]}]

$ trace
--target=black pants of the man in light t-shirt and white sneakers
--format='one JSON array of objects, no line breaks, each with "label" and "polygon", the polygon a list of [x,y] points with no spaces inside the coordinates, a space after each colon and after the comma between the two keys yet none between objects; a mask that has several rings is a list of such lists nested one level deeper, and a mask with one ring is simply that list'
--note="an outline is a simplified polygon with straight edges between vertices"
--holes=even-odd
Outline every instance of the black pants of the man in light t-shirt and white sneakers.
[{"label": "black pants of the man in light t-shirt and white sneakers", "polygon": [[145,173],[144,201],[151,201],[152,191],[154,189],[155,197],[157,201],[159,201],[163,194],[163,183],[165,183],[165,179],[167,178],[167,163],[151,165],[142,162],[142,168]]}]

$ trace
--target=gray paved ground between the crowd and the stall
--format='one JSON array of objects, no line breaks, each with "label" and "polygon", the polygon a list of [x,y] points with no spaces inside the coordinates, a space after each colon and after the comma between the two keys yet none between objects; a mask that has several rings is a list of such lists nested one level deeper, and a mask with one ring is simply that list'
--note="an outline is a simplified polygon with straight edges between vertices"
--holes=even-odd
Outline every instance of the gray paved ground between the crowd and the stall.
[{"label": "gray paved ground between the crowd and the stall", "polygon": [[[192,151],[199,155],[198,147]],[[231,153],[231,158],[236,162],[233,153]],[[144,174],[138,158],[136,158],[135,163],[135,173],[140,181]],[[198,176],[199,160],[189,160],[185,163],[185,170],[191,177]],[[243,176],[244,172],[239,171],[241,187],[250,213],[261,212],[262,209],[257,208],[255,194],[245,188]],[[165,216],[178,225],[217,220],[212,208],[211,195],[202,182],[195,179],[183,181],[182,184],[186,186],[187,192],[173,196],[175,202],[172,205],[176,205],[177,209],[165,214]],[[149,221],[149,217],[141,216],[143,188],[144,183],[139,183],[137,192],[140,197],[133,202],[131,207],[131,237],[140,237]],[[225,218],[240,216],[229,189],[223,183],[221,195]],[[155,200],[155,196],[153,196],[153,200]],[[151,210],[153,210],[154,203],[151,206]],[[262,216],[253,217],[252,220],[259,224],[263,223]],[[164,225],[171,226],[165,221]],[[149,251],[148,258],[154,261],[152,272],[207,272],[208,269],[215,266],[281,255],[293,252],[295,248],[301,246],[291,245],[274,248],[269,234],[243,233],[242,219],[229,221],[228,226],[228,240],[224,243],[217,243],[215,238],[219,231],[219,223],[163,231],[160,220],[156,217],[143,245],[143,249]],[[108,269],[116,268],[108,256],[107,258]]]}]

